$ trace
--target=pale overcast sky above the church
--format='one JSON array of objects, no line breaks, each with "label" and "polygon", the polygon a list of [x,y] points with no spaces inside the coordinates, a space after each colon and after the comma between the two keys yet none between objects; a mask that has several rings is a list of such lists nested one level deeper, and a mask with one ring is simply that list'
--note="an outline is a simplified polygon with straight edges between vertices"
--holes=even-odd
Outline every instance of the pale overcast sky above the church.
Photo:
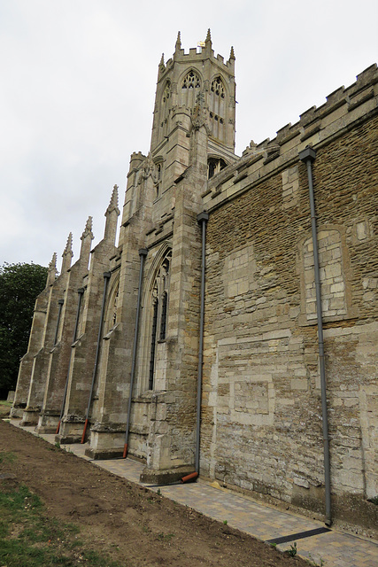
[{"label": "pale overcast sky above the church", "polygon": [[161,53],[235,48],[236,153],[378,60],[377,0],[0,0],[0,265],[48,265],[89,215],[103,237],[130,154],[150,148]]}]

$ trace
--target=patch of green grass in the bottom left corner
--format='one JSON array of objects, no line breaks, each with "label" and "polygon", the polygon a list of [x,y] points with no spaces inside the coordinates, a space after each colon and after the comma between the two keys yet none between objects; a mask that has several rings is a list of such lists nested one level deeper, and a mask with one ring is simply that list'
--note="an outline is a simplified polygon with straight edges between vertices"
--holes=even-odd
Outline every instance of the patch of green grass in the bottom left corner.
[{"label": "patch of green grass in the bottom left corner", "polygon": [[27,486],[0,491],[0,565],[6,567],[120,567],[86,548],[79,527],[47,517]]}]

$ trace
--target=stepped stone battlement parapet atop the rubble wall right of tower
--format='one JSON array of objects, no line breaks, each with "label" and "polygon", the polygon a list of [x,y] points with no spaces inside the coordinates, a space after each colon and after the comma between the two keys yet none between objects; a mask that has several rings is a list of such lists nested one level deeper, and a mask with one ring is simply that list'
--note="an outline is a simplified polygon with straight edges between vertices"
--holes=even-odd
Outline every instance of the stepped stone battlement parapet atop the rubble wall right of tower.
[{"label": "stepped stone battlement parapet atop the rubble wall right of tower", "polygon": [[302,113],[296,124],[278,130],[273,140],[251,142],[235,164],[225,167],[208,182],[201,195],[204,208],[209,212],[218,208],[252,185],[297,163],[298,152],[308,145],[320,148],[375,113],[378,113],[376,64],[359,74],[350,87],[341,87],[328,95],[324,105],[312,106]]}]

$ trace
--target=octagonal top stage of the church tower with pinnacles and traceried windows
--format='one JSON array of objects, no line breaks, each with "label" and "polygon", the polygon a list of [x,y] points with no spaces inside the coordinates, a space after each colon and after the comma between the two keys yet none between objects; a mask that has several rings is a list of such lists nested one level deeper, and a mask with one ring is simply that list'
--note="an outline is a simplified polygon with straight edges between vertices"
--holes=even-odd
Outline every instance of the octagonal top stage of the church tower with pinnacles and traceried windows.
[{"label": "octagonal top stage of the church tower with pinnacles and traceried windows", "polygon": [[235,55],[231,48],[227,62],[220,55],[214,56],[210,29],[201,46],[189,53],[181,49],[179,32],[173,58],[165,63],[163,55],[158,66],[150,155],[156,175],[165,185],[171,181],[173,161],[187,161],[185,151],[176,151],[170,158],[177,128],[186,123],[184,117],[196,120],[198,108],[208,133],[211,177],[235,159]]}]

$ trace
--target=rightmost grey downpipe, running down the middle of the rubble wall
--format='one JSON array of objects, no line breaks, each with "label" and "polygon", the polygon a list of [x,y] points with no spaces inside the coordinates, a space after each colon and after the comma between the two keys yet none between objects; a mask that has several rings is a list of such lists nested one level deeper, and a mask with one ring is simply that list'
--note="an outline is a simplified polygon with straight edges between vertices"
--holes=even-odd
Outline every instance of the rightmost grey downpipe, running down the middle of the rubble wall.
[{"label": "rightmost grey downpipe, running down the middle of the rubble wall", "polygon": [[309,197],[310,197],[313,265],[314,265],[314,273],[315,273],[315,291],[316,291],[316,315],[318,322],[321,416],[322,416],[322,427],[323,427],[324,485],[325,485],[325,493],[326,493],[325,524],[329,526],[332,524],[332,517],[331,517],[331,482],[330,482],[331,475],[330,475],[330,464],[329,464],[328,411],[327,411],[327,383],[326,383],[326,369],[325,369],[325,361],[324,361],[323,320],[321,314],[318,235],[316,229],[315,202],[313,198],[313,183],[312,183],[312,161],[315,160],[316,152],[312,148],[307,147],[305,148],[305,150],[299,152],[298,157],[301,161],[305,163],[307,167],[308,189],[309,189]]}]

